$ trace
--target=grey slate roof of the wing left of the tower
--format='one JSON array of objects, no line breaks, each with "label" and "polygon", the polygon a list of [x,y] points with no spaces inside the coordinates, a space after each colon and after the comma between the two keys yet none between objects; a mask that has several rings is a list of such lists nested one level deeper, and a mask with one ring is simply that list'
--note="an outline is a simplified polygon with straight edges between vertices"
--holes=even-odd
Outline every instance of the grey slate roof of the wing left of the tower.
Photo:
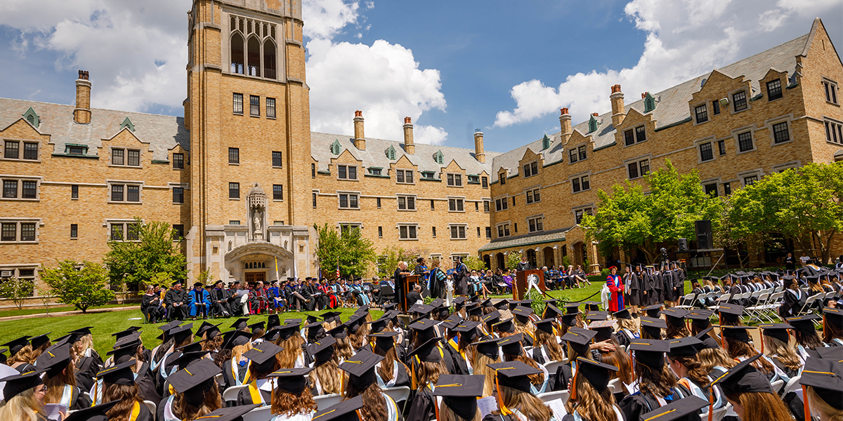
[{"label": "grey slate roof of the wing left of the tower", "polygon": [[52,153],[64,153],[65,145],[87,145],[88,155],[97,154],[97,147],[102,146],[102,139],[110,139],[121,131],[120,125],[126,117],[135,126],[134,135],[142,142],[149,143],[153,159],[166,161],[167,151],[180,144],[185,149],[191,147],[191,138],[185,131],[183,118],[171,115],[153,115],[114,111],[111,109],[91,109],[91,122],[80,125],[73,121],[73,105],[49,104],[22,99],[0,98],[0,130],[19,120],[27,109],[35,110],[40,118],[38,131],[49,135],[55,144]]}]

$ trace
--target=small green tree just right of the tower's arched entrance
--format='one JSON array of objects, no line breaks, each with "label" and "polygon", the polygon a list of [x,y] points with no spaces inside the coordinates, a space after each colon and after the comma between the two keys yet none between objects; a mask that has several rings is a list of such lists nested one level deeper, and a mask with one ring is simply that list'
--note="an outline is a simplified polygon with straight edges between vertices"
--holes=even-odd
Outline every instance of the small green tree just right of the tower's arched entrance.
[{"label": "small green tree just right of the tower's arched entrance", "polygon": [[336,278],[337,265],[341,276],[362,277],[367,273],[375,260],[374,246],[371,240],[362,237],[359,228],[339,232],[327,223],[314,228],[319,233],[316,258],[323,277]]}]

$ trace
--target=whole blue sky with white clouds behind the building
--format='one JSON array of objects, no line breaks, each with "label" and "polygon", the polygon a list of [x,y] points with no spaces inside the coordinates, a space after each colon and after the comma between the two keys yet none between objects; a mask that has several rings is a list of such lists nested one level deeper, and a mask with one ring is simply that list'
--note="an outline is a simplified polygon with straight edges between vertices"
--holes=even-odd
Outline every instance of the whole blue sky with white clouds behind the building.
[{"label": "whole blue sky with white clouds behind the building", "polygon": [[[0,97],[182,115],[191,0],[0,0]],[[843,0],[303,0],[311,130],[506,152],[807,34]],[[840,53],[840,50],[838,50]]]}]

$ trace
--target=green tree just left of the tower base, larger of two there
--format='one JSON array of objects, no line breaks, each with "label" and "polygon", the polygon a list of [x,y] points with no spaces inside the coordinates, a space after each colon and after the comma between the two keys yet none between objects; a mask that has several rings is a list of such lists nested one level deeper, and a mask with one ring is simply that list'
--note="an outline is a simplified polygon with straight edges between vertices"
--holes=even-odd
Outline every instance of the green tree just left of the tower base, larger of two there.
[{"label": "green tree just left of the tower base, larger of two there", "polygon": [[105,266],[109,270],[111,285],[149,284],[155,274],[166,274],[169,279],[187,278],[187,260],[174,241],[175,230],[167,222],[143,223],[135,217],[129,226],[131,237],[137,241],[110,239]]}]

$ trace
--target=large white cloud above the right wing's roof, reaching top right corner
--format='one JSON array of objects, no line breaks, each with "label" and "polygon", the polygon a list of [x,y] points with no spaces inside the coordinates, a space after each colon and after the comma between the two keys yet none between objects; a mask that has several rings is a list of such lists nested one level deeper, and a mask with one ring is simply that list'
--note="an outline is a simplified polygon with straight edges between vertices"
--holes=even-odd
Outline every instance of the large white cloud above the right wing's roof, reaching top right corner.
[{"label": "large white cloud above the right wing's roof, reaching top right corner", "polygon": [[[642,92],[658,92],[774,46],[765,35],[773,29],[788,40],[803,35],[817,13],[833,7],[840,8],[840,0],[780,0],[775,5],[764,0],[632,0],[624,9],[626,17],[647,33],[634,66],[578,72],[558,86],[519,83],[510,91],[515,109],[498,112],[494,125],[524,123],[561,107],[583,121],[611,108],[609,87],[615,83],[630,103]],[[752,22],[758,25],[747,24]]]}]

